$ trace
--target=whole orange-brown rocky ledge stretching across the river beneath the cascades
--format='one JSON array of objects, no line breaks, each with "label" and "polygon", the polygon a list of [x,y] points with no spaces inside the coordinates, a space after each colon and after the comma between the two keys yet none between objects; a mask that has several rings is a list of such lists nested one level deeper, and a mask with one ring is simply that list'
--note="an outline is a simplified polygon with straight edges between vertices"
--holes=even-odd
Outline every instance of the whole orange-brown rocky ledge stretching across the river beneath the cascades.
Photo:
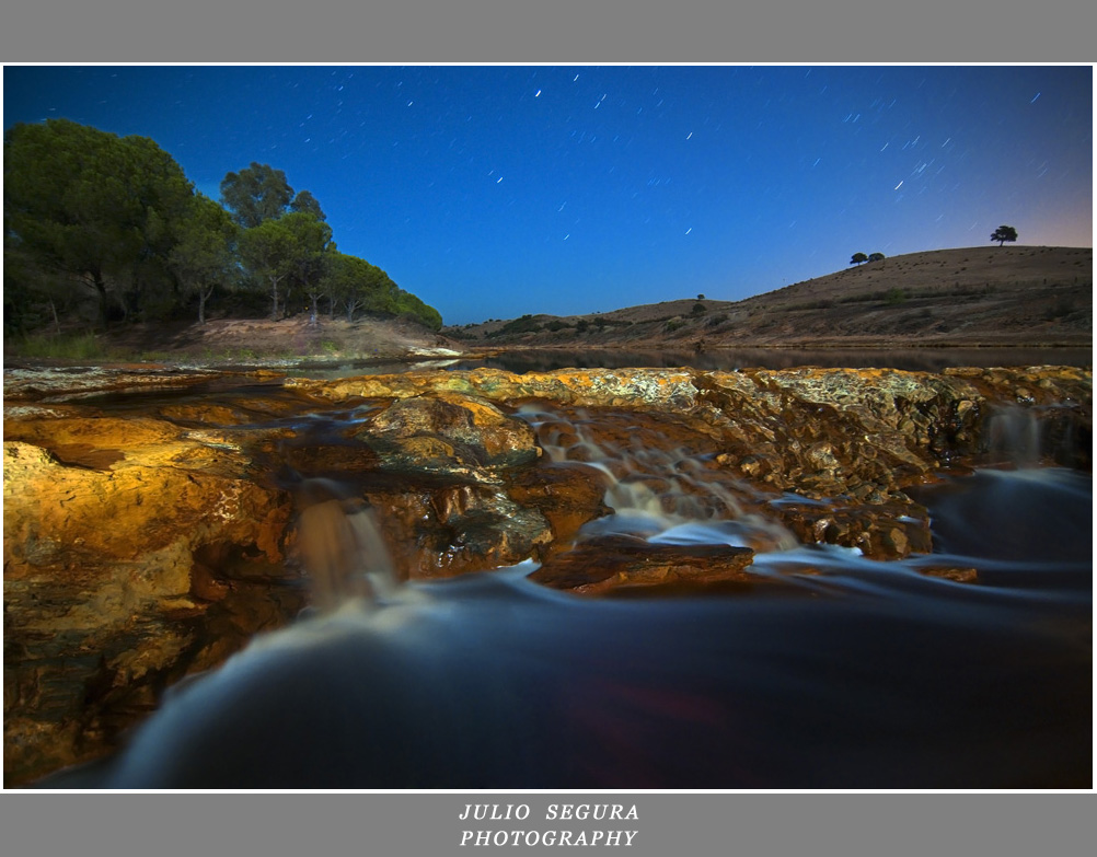
[{"label": "whole orange-brown rocky ledge stretching across the river beneath the cascades", "polygon": [[[426,579],[532,557],[533,579],[581,594],[765,590],[760,550],[929,552],[905,489],[1016,438],[1090,469],[1090,372],[5,374],[5,785],[101,755],[170,684],[357,591],[363,563]],[[690,521],[736,545],[648,540]]]}]

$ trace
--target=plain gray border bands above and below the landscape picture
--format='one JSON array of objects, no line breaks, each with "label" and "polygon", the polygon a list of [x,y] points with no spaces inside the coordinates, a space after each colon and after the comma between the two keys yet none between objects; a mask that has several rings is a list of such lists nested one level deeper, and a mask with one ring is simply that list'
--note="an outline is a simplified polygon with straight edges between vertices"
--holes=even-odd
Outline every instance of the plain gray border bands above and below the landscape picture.
[{"label": "plain gray border bands above and below the landscape picture", "polygon": [[[1081,0],[38,0],[3,11],[0,61],[1089,64],[1093,9]],[[528,803],[528,830],[552,826],[541,809],[551,802],[635,803],[636,857],[1073,855],[1089,853],[1094,832],[1093,792],[5,792],[0,842],[20,857],[433,857],[462,853],[456,816],[467,802]]]}]

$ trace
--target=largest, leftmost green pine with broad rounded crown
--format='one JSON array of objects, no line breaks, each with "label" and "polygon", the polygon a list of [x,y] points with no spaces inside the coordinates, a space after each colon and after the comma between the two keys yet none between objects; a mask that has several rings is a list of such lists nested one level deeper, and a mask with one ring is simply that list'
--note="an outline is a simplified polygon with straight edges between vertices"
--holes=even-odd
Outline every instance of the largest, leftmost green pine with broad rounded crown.
[{"label": "largest, leftmost green pine with broad rounded crown", "polygon": [[[99,317],[163,292],[171,226],[193,185],[147,137],[118,137],[69,120],[18,124],[4,135],[4,227],[44,270],[90,289]],[[129,300],[124,293],[129,286]]]}]

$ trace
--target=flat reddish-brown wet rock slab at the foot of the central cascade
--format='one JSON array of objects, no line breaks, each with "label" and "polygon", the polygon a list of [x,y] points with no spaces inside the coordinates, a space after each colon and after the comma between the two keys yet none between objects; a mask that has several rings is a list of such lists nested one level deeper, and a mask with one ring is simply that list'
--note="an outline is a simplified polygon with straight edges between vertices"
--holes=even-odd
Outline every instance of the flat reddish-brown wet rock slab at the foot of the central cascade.
[{"label": "flat reddish-brown wet rock slab at the foot of the central cascade", "polygon": [[554,556],[530,579],[583,595],[654,587],[680,590],[727,583],[755,585],[764,578],[750,573],[753,559],[749,548],[653,544],[626,535],[608,535]]}]

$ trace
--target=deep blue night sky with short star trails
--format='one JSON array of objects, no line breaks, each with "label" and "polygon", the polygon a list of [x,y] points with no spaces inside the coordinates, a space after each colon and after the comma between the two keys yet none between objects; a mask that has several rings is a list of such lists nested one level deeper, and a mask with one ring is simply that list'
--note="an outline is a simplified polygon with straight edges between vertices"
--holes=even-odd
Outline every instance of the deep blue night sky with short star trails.
[{"label": "deep blue night sky with short star trails", "polygon": [[850,256],[1093,246],[1093,69],[5,67],[4,127],[284,170],[448,324],[739,300]]}]

